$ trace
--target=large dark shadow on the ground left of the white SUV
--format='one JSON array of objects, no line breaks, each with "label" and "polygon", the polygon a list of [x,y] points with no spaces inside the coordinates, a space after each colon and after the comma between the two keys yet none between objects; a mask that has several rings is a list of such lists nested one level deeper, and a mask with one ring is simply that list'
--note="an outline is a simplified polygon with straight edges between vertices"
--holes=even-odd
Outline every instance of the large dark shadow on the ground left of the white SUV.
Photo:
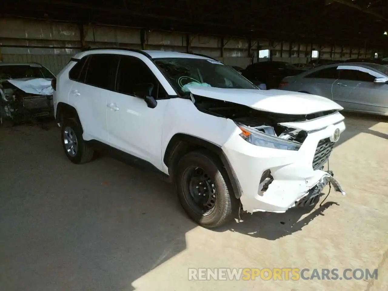
[{"label": "large dark shadow on the ground left of the white SUV", "polygon": [[73,165],[59,137],[0,131],[0,290],[133,290],[197,225],[170,184],[105,157]]}]

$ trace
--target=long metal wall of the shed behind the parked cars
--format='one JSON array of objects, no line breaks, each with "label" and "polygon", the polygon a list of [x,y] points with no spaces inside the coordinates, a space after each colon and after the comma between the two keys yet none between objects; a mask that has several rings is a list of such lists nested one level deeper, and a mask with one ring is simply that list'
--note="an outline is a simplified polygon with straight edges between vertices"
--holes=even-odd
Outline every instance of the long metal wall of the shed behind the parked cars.
[{"label": "long metal wall of the shed behind the parked cars", "polygon": [[[227,34],[227,31],[225,32]],[[143,36],[143,37],[142,37]],[[143,39],[143,42],[142,42]],[[40,62],[57,74],[81,45],[90,47],[128,47],[170,50],[210,55],[225,64],[245,68],[258,59],[258,49],[271,51],[272,59],[305,63],[311,50],[324,59],[349,59],[373,56],[374,50],[344,47],[319,47],[315,44],[270,42],[237,37],[189,35],[166,31],[141,31],[117,26],[58,23],[32,19],[0,19],[0,60]],[[267,61],[268,59],[259,59]]]}]

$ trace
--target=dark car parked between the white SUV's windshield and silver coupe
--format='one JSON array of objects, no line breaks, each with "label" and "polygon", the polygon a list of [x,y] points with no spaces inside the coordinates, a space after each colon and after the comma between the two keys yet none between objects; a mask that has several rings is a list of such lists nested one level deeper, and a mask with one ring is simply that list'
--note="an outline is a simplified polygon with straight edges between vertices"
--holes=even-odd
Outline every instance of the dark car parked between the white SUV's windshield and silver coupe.
[{"label": "dark car parked between the white SUV's windshield and silver coupe", "polygon": [[303,73],[305,69],[296,68],[288,62],[256,62],[242,70],[242,76],[252,83],[261,81],[268,89],[279,87],[284,77]]}]

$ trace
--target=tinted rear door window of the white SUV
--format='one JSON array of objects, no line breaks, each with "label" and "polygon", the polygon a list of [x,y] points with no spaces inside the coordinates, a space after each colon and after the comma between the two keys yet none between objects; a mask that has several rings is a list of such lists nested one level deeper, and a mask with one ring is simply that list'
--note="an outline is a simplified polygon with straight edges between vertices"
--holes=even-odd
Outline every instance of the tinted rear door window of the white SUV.
[{"label": "tinted rear door window of the white SUV", "polygon": [[95,87],[114,90],[118,55],[89,55],[85,83]]}]

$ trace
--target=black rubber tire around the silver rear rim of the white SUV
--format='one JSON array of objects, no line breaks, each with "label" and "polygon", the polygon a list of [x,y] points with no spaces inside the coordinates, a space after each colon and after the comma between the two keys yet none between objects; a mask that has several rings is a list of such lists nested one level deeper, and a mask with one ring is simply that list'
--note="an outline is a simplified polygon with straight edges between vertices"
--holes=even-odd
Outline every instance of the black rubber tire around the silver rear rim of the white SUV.
[{"label": "black rubber tire around the silver rear rim of the white SUV", "polygon": [[[75,135],[77,138],[78,150],[74,156],[71,156],[69,154],[65,146],[65,141],[64,141],[65,128],[71,128],[75,132]],[[80,123],[78,123],[75,120],[75,118],[68,118],[63,121],[62,127],[61,127],[61,141],[62,141],[64,152],[72,163],[84,164],[84,163],[90,162],[93,159],[94,150],[86,144],[85,140],[83,140],[82,127]]]}]

